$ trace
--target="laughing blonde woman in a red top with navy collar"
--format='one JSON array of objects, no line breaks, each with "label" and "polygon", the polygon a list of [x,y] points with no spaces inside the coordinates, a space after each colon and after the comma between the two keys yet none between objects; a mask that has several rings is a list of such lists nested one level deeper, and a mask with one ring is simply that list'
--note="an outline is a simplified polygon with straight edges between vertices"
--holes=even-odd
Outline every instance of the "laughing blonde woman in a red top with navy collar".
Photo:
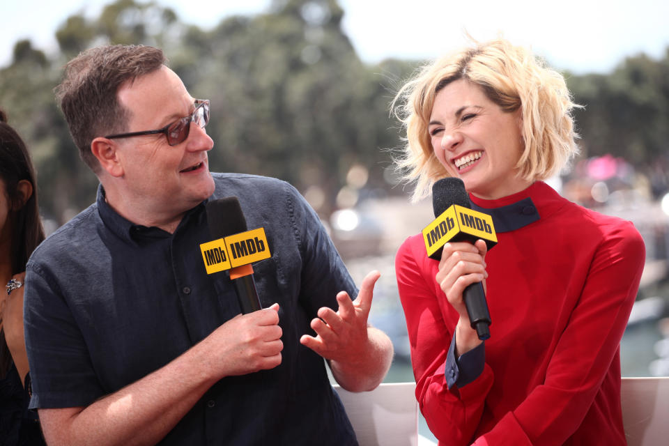
[{"label": "laughing blonde woman in a red top with navy collar", "polygon": [[[564,79],[493,40],[431,63],[394,100],[414,199],[461,178],[498,245],[419,234],[396,257],[416,397],[440,445],[625,445],[620,339],[645,248],[630,222],[581,208],[543,182],[576,153]],[[463,289],[483,282],[491,337]]]}]

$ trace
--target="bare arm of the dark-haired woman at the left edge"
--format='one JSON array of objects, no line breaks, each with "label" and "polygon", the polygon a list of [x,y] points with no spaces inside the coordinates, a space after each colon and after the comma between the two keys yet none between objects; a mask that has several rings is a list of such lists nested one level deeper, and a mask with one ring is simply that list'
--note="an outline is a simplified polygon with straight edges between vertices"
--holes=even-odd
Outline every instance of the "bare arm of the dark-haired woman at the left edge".
[{"label": "bare arm of the dark-haired woman at the left edge", "polygon": [[[24,283],[26,273],[21,272],[13,277],[13,279]],[[14,364],[21,383],[26,378],[28,373],[28,355],[26,354],[26,341],[23,334],[23,286],[13,290],[10,295],[5,297],[5,305],[2,315],[3,330],[5,331],[5,341],[9,348],[9,353],[12,355]],[[4,289],[0,291],[4,293]]]}]

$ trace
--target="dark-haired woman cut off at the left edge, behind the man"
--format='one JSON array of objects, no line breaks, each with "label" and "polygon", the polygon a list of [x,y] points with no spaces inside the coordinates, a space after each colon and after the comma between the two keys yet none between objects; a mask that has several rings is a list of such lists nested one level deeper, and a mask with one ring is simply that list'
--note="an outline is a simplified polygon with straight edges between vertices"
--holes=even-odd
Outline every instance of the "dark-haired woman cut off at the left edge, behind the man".
[{"label": "dark-haired woman cut off at the left edge, behind the man", "polygon": [[[0,110],[0,444],[44,445],[28,408],[30,378],[23,337],[26,261],[44,240],[37,183],[21,137]],[[25,388],[24,388],[25,385]]]}]

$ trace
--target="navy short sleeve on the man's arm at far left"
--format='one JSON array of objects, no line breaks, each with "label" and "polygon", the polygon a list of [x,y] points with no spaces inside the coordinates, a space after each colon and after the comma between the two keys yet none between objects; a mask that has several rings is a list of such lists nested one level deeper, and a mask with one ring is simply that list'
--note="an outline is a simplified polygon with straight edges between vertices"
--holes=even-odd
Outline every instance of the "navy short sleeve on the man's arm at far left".
[{"label": "navy short sleeve on the man's arm at far left", "polygon": [[32,387],[29,408],[87,406],[105,394],[59,286],[33,262],[26,268],[24,323]]}]

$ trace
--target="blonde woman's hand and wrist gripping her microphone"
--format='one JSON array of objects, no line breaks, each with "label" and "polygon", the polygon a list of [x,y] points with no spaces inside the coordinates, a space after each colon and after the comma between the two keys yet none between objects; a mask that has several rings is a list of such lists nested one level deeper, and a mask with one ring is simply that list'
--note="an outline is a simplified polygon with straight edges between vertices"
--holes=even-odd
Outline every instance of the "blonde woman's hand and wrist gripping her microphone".
[{"label": "blonde woman's hand and wrist gripping her microphone", "polygon": [[472,350],[482,342],[471,327],[462,293],[467,286],[476,282],[483,282],[485,289],[485,279],[488,277],[486,252],[488,248],[483,240],[477,240],[474,245],[468,242],[447,243],[439,261],[436,281],[449,304],[460,315],[455,330],[457,355]]}]

